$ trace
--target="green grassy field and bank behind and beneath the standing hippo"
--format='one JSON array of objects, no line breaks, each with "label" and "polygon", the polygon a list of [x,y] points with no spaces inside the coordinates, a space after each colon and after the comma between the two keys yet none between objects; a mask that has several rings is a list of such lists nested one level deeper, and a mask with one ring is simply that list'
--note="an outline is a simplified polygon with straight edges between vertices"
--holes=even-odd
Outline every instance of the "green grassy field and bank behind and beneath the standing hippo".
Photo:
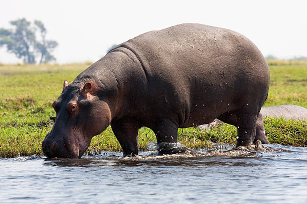
[{"label": "green grassy field and bank behind and beneath the standing hippo", "polygon": [[[52,102],[60,95],[64,80],[71,82],[91,63],[85,64],[0,64],[0,157],[42,155],[41,142],[52,128],[55,116]],[[307,62],[269,62],[271,83],[265,106],[297,104],[307,107]],[[265,131],[271,143],[307,146],[307,121],[265,118]],[[208,130],[185,128],[178,139],[191,148],[210,147],[212,142],[236,142],[236,128],[223,124]],[[156,140],[148,128],[139,129],[138,145]],[[121,151],[108,127],[92,139],[87,153]]]}]

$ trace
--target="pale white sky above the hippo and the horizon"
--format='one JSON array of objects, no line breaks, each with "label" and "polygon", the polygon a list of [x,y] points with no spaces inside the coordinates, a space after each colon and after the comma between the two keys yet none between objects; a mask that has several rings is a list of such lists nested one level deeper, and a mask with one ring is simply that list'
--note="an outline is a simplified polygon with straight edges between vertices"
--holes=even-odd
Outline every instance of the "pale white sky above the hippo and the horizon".
[{"label": "pale white sky above the hippo and the horizon", "polygon": [[[238,31],[263,55],[307,56],[307,0],[2,0],[0,27],[41,20],[59,63],[96,61],[112,44],[149,30],[197,22]],[[0,62],[16,63],[0,49]]]}]

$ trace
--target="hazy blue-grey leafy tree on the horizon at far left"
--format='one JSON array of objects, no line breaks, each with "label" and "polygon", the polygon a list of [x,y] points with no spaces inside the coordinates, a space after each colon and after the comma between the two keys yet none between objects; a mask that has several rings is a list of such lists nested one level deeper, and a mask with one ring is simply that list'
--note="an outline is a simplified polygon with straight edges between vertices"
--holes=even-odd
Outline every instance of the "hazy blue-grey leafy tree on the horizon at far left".
[{"label": "hazy blue-grey leafy tree on the horizon at far left", "polygon": [[[26,63],[35,63],[36,56],[40,56],[39,63],[54,60],[51,51],[58,45],[54,40],[47,40],[47,30],[41,21],[36,20],[34,26],[26,18],[10,22],[14,29],[0,28],[0,47],[6,45],[8,52],[14,53]],[[41,40],[36,39],[39,30]]]}]

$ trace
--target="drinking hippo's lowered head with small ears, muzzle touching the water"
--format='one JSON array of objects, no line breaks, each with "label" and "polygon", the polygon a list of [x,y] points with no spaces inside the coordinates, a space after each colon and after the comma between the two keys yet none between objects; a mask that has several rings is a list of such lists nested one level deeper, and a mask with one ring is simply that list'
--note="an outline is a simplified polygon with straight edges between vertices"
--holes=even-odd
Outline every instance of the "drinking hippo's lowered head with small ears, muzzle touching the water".
[{"label": "drinking hippo's lowered head with small ears, muzzle touching the water", "polygon": [[111,112],[98,92],[93,80],[64,81],[61,95],[52,104],[56,111],[54,126],[42,143],[47,157],[81,157],[92,137],[107,128]]}]

